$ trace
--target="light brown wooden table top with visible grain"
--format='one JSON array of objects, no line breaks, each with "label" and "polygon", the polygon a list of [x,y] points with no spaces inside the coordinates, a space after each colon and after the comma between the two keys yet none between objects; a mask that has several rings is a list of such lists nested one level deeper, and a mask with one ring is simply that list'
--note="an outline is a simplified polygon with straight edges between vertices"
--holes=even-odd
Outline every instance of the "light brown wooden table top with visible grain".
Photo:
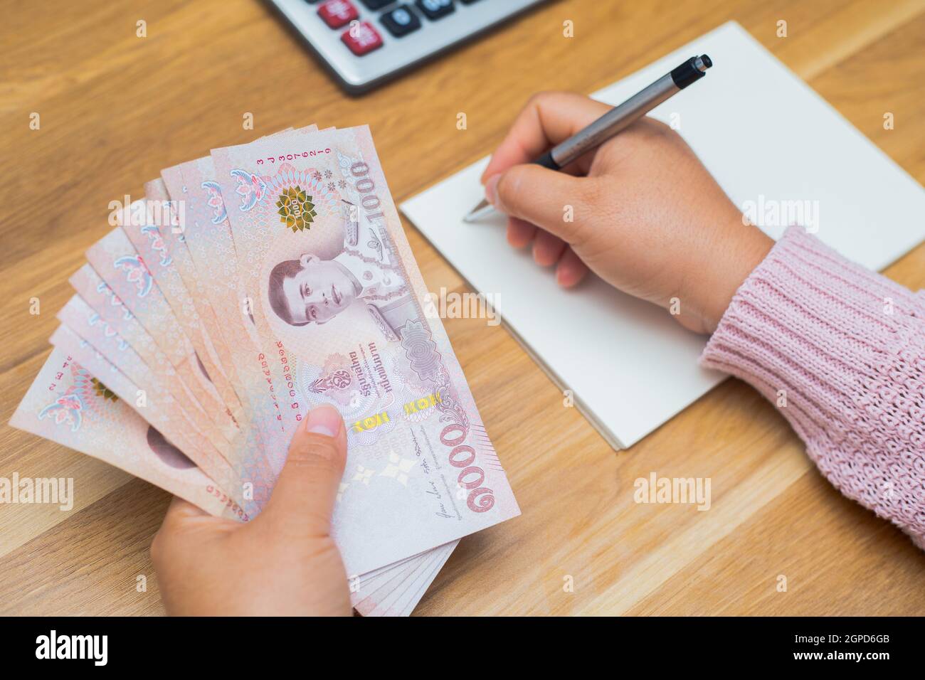
[{"label": "light brown wooden table top with visible grain", "polygon": [[[0,16],[0,476],[73,476],[77,491],[69,513],[0,506],[2,613],[163,612],[148,546],[167,494],[6,426],[109,201],[162,167],[288,126],[369,123],[399,202],[485,155],[530,93],[592,92],[736,19],[925,181],[923,0],[555,2],[358,99],[255,0],[4,0]],[[405,226],[428,288],[464,290]],[[886,273],[925,287],[925,245]],[[925,553],[832,488],[745,384],[614,452],[507,330],[446,326],[524,514],[464,539],[418,613],[925,612]],[[711,509],[635,504],[650,471],[711,477]]]}]

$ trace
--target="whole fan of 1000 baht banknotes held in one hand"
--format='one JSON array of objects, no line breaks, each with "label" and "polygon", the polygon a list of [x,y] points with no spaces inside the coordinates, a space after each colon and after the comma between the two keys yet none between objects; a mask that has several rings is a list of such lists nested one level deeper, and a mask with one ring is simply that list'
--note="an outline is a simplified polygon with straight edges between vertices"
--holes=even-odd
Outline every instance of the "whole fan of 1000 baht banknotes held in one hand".
[{"label": "whole fan of 1000 baht banknotes held in one hand", "polygon": [[354,607],[410,613],[460,538],[520,511],[369,129],[215,149],[145,193],[69,279],[12,425],[248,522],[307,411],[333,404]]}]

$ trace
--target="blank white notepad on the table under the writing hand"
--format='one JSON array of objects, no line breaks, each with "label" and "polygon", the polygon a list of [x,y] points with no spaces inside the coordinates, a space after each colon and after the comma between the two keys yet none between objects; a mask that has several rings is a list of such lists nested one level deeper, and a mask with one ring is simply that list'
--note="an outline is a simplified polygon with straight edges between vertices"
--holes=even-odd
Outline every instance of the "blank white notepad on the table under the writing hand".
[{"label": "blank white notepad on the table under the writing hand", "polygon": [[[651,116],[680,132],[740,208],[817,201],[817,236],[882,269],[925,239],[925,192],[735,22],[593,96],[623,102],[686,58],[708,54],[706,78]],[[885,106],[885,105],[884,105]],[[723,379],[702,370],[706,338],[664,310],[595,278],[562,291],[551,269],[505,241],[502,217],[462,222],[483,198],[487,158],[401,205],[614,447],[630,446]],[[764,228],[777,238],[783,228]]]}]

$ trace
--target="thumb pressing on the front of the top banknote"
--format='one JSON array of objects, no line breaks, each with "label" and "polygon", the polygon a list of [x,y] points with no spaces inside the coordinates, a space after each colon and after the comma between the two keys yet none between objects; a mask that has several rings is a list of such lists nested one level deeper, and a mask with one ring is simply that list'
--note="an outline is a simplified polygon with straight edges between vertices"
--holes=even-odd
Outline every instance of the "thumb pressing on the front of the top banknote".
[{"label": "thumb pressing on the front of the top banknote", "polygon": [[346,461],[347,430],[337,409],[312,409],[292,436],[273,496],[258,519],[289,536],[327,536]]}]

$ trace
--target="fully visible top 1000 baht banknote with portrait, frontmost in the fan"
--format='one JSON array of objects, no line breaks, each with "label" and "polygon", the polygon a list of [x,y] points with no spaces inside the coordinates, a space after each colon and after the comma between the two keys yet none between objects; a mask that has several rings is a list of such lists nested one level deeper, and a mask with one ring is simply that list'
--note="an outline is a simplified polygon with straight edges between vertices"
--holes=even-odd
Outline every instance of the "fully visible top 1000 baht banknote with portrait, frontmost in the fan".
[{"label": "fully visible top 1000 baht banknote with portrait, frontmost in the fan", "polygon": [[[249,334],[279,408],[337,406],[334,534],[362,574],[519,513],[414,263],[367,128],[216,149]],[[383,509],[388,511],[383,512]]]}]

